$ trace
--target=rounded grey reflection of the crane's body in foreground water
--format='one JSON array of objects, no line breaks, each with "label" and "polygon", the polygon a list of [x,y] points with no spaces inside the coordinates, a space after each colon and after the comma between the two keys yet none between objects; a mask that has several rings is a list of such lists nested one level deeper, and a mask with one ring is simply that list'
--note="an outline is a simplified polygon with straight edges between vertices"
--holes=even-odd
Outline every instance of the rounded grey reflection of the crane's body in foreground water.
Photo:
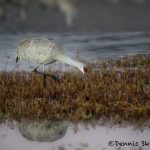
[{"label": "rounded grey reflection of the crane's body in foreground water", "polygon": [[17,127],[23,137],[30,141],[38,142],[56,141],[64,137],[68,126],[68,121],[35,121],[24,119],[17,122]]}]

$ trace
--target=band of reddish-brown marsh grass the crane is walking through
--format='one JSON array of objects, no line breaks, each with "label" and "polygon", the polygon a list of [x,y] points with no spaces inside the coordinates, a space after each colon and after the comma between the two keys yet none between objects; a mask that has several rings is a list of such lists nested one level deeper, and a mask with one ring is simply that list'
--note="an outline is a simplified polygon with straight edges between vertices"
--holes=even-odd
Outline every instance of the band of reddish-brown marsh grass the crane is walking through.
[{"label": "band of reddish-brown marsh grass the crane is walking through", "polygon": [[[121,70],[117,70],[121,68]],[[60,82],[36,73],[0,72],[0,120],[112,117],[138,121],[150,116],[150,55],[98,60],[88,73],[48,71]]]}]

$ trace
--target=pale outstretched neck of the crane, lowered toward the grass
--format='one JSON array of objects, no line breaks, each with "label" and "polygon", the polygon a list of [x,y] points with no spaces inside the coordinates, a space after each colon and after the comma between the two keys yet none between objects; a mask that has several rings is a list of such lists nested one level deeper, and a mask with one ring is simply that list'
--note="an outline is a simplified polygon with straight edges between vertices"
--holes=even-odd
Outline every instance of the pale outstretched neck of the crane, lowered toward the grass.
[{"label": "pale outstretched neck of the crane, lowered toward the grass", "polygon": [[69,58],[68,56],[61,56],[61,57],[58,57],[58,60],[61,61],[61,62],[63,62],[63,63],[66,63],[66,64],[69,64],[69,65],[75,66],[75,67],[77,67],[77,68],[79,68],[79,69],[84,66],[83,63],[78,62],[78,61],[75,61],[75,60]]}]

